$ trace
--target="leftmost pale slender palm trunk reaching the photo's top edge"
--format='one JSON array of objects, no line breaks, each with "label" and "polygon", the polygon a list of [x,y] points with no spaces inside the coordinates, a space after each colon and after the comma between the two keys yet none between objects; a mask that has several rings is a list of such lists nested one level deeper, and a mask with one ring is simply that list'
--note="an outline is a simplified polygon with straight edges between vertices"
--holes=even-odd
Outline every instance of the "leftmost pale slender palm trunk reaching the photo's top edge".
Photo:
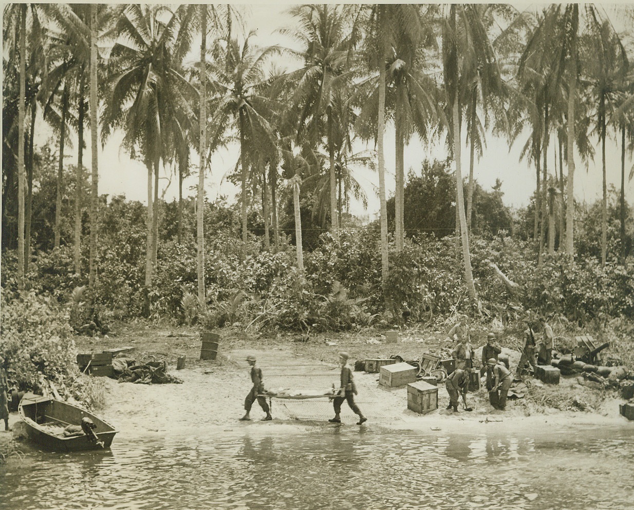
[{"label": "leftmost pale slender palm trunk reaching the photo's top edge", "polygon": [[24,289],[24,102],[27,74],[27,5],[20,16],[20,103],[18,103],[18,289]]}]

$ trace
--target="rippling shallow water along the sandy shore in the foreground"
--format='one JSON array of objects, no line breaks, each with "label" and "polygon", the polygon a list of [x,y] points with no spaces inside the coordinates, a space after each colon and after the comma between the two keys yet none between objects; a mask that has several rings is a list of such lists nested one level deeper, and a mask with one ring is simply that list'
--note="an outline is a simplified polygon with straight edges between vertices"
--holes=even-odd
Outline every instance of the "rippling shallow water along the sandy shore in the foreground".
[{"label": "rippling shallow water along the sandy shore in the foreground", "polygon": [[0,467],[0,509],[628,509],[634,430],[117,435]]}]

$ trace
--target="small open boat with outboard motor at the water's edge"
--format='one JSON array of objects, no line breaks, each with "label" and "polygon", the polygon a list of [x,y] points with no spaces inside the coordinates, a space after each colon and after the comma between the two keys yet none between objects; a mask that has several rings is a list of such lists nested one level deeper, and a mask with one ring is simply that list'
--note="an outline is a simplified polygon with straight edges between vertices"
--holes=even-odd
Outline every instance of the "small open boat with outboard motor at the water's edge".
[{"label": "small open boat with outboard motor at the water's edge", "polygon": [[[110,448],[117,433],[110,423],[86,409],[51,397],[26,394],[20,401],[18,413],[26,424],[29,438],[54,451],[75,452]],[[81,425],[82,418],[93,421],[94,434],[64,437],[64,429],[68,425]]]}]

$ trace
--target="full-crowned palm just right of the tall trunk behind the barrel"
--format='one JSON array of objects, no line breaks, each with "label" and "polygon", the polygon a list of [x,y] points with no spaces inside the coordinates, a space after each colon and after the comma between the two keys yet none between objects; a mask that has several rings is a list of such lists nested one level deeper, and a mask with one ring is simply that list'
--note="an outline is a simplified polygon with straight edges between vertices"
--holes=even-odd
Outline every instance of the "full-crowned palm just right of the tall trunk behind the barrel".
[{"label": "full-crowned palm just right of the tall trunk behind the barrel", "polygon": [[[240,181],[242,189],[242,256],[247,258],[247,180],[254,150],[270,156],[276,150],[275,132],[269,121],[270,109],[265,90],[271,80],[264,75],[264,63],[269,50],[251,45],[255,32],[242,43],[235,37],[221,37],[214,43],[214,54],[222,61],[210,64],[210,76],[218,90],[214,123],[216,134],[224,130],[233,118],[240,139]],[[215,136],[217,138],[217,135]],[[247,145],[247,140],[249,145]]]}]

